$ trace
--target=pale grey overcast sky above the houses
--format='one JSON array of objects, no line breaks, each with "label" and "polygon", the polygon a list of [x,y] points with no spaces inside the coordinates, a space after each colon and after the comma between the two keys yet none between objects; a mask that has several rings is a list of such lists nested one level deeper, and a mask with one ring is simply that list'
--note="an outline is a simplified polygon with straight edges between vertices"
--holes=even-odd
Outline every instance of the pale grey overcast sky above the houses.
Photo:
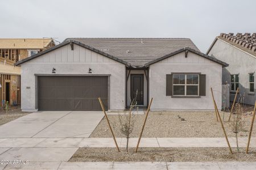
[{"label": "pale grey overcast sky above the houses", "polygon": [[256,1],[0,1],[0,37],[186,37],[206,52],[221,32],[256,32]]}]

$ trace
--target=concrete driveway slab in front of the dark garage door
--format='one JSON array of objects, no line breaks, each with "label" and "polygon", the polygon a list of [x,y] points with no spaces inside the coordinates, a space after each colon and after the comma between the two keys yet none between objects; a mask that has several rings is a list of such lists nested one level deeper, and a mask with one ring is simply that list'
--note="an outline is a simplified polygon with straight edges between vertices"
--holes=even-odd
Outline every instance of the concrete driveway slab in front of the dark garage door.
[{"label": "concrete driveway slab in front of the dark garage door", "polygon": [[102,112],[37,112],[0,126],[0,138],[88,138]]}]

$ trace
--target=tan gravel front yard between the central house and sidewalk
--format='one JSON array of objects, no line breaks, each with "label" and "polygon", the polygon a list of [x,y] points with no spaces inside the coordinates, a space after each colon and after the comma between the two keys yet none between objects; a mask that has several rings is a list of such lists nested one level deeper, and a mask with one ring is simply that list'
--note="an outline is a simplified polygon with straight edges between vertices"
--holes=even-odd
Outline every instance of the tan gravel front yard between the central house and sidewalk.
[{"label": "tan gravel front yard between the central house and sidewalk", "polygon": [[[221,118],[223,113],[220,112]],[[232,117],[234,114],[232,115]],[[142,128],[145,114],[135,115],[135,124],[133,132],[130,137],[139,137]],[[230,123],[227,121],[229,113],[225,113],[224,126],[228,137],[235,137]],[[244,130],[239,134],[240,137],[247,137],[249,134],[252,114],[247,112],[243,115]],[[109,115],[109,121],[112,125],[115,137],[125,137],[119,128],[118,115]],[[256,126],[253,128],[252,137],[256,137]],[[103,118],[96,129],[90,135],[90,138],[111,138],[106,118]],[[142,137],[159,137],[159,138],[175,138],[175,137],[224,137],[220,122],[216,121],[216,114],[214,112],[196,112],[196,111],[163,111],[150,112],[148,114],[146,126]]]}]

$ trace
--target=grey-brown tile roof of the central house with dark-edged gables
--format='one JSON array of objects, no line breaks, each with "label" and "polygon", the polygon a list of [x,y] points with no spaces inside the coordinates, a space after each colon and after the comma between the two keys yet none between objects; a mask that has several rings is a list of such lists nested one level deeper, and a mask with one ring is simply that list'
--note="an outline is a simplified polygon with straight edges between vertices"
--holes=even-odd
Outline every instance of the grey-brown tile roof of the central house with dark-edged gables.
[{"label": "grey-brown tile roof of the central house with dark-edged gables", "polygon": [[[88,41],[81,41],[88,40]],[[181,52],[192,52],[208,58],[222,66],[228,66],[214,57],[207,56],[197,49],[190,39],[66,39],[60,44],[22,59],[14,65],[18,66],[31,59],[42,56],[64,45],[76,44],[105,57],[123,63],[127,67],[147,67],[164,58],[174,56]],[[92,41],[89,41],[92,40]],[[91,43],[89,43],[91,42]],[[97,43],[98,42],[98,43]],[[147,42],[147,43],[146,43]],[[88,45],[89,44],[89,45]],[[144,45],[146,44],[146,45]],[[189,45],[189,46],[188,46]],[[120,50],[121,52],[119,52]],[[155,51],[156,50],[156,51]]]}]

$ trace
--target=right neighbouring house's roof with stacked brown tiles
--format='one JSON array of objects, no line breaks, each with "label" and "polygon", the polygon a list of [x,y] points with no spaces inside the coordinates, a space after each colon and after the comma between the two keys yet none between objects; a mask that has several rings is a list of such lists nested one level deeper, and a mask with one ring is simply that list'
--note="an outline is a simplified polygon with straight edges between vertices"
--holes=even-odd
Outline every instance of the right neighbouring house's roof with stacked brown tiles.
[{"label": "right neighbouring house's roof with stacked brown tiles", "polygon": [[[242,50],[243,52],[249,53],[256,57],[256,33],[245,33],[244,35],[242,35],[242,33],[237,33],[236,35],[234,35],[234,33],[221,33],[220,36],[216,37],[216,40],[217,39],[228,42],[228,44],[236,46],[236,48]],[[214,40],[214,42],[216,40]],[[207,54],[210,52],[213,44],[210,46]]]}]

